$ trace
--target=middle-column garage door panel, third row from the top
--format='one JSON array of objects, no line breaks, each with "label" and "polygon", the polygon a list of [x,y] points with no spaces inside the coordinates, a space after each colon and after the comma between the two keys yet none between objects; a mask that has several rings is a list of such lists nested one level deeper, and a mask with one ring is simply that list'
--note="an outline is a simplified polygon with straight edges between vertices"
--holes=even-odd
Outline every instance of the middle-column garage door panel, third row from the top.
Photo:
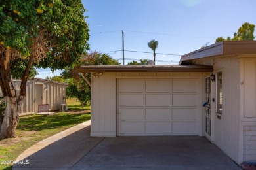
[{"label": "middle-column garage door panel, third row from the top", "polygon": [[169,120],[170,109],[146,109],[146,120]]}]

